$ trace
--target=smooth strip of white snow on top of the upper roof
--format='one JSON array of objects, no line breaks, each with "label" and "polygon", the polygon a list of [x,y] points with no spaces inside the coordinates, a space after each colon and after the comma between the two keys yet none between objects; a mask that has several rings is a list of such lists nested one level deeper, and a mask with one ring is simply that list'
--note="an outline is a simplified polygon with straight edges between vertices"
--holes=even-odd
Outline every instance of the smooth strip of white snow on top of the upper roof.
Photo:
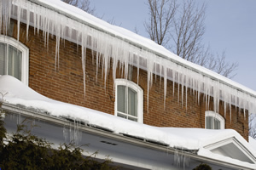
[{"label": "smooth strip of white snow on top of the upper roof", "polygon": [[113,26],[104,20],[98,19],[95,16],[84,12],[80,8],[74,7],[73,5],[63,3],[60,0],[55,0],[55,1],[53,1],[53,0],[30,0],[30,1],[47,4],[47,6],[55,8],[55,10],[60,10],[60,11],[67,13],[69,17],[76,18],[74,20],[78,20],[78,19],[83,20],[86,23],[90,24],[91,26],[94,26],[103,31],[107,31],[109,34],[113,34],[116,37],[121,37],[124,40],[126,39],[131,42],[135,42],[140,46],[144,46],[145,48],[151,49],[154,52],[157,52],[159,54],[163,54],[164,56],[166,56],[168,58],[177,60],[178,62],[183,63],[184,65],[188,65],[189,67],[195,68],[196,70],[204,72],[211,77],[216,77],[217,79],[227,82],[229,84],[232,84],[232,85],[236,86],[237,88],[244,89],[248,93],[256,96],[256,92],[250,88],[247,88],[237,82],[234,82],[234,81],[230,80],[229,78],[223,77],[222,75],[219,75],[218,73],[216,73],[214,71],[210,71],[207,68],[202,67],[201,65],[196,65],[186,59],[182,59],[181,57],[177,56],[177,54],[173,54],[170,50],[167,50],[163,46],[155,43],[154,41],[152,41],[146,37],[142,37],[132,31],[129,31],[120,26]]}]

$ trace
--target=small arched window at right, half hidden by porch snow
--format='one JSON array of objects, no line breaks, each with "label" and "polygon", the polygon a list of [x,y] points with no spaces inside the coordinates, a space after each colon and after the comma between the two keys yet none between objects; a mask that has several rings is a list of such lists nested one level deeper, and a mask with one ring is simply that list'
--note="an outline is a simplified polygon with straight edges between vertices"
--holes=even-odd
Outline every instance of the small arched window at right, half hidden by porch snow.
[{"label": "small arched window at right, half hidden by porch snow", "polygon": [[224,129],[225,121],[214,111],[206,111],[206,128],[207,129]]}]

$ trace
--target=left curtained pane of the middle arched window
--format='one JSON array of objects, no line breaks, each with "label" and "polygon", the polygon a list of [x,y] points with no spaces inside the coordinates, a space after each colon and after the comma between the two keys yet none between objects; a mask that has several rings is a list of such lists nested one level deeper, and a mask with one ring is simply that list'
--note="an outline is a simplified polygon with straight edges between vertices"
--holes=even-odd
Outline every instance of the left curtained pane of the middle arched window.
[{"label": "left curtained pane of the middle arched window", "polygon": [[126,111],[126,102],[125,102],[125,86],[118,86],[117,89],[117,108],[118,111],[121,111],[123,113],[127,113]]}]

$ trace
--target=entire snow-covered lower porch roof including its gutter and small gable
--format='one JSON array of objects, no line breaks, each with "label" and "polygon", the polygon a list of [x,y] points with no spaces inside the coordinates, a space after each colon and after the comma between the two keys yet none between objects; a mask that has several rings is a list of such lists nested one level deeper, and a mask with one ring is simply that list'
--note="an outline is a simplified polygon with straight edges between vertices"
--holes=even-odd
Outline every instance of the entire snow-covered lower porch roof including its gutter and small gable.
[{"label": "entire snow-covered lower porch roof including its gutter and small gable", "polygon": [[[19,87],[19,88],[17,88]],[[0,93],[5,94],[0,102],[2,109],[26,110],[46,113],[97,127],[105,131],[122,134],[132,139],[143,139],[175,150],[189,150],[191,154],[241,167],[256,168],[256,153],[235,130],[209,130],[200,128],[152,127],[145,124],[90,110],[77,105],[48,99],[26,87],[14,77],[0,77]],[[26,110],[20,112],[26,112]],[[53,119],[54,120],[54,119]],[[230,153],[236,155],[232,156]]]}]

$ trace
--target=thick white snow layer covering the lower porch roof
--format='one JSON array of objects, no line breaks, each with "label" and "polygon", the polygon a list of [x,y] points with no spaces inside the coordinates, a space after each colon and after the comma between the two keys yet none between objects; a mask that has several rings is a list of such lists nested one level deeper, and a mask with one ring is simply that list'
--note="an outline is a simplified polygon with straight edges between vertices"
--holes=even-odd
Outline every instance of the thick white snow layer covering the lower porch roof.
[{"label": "thick white snow layer covering the lower porch roof", "polygon": [[[138,122],[132,122],[101,111],[95,111],[78,105],[71,105],[46,98],[32,90],[32,88],[27,87],[15,77],[10,76],[0,76],[0,94],[5,94],[3,99],[0,98],[0,102],[2,100],[2,102],[12,105],[24,105],[26,107],[44,110],[47,111],[50,116],[69,117],[76,121],[105,127],[113,131],[113,133],[124,133],[168,144],[172,148],[199,150],[199,156],[206,156],[219,161],[228,161],[235,164],[237,163],[237,165],[255,168],[253,164],[234,160],[226,156],[220,156],[204,148],[209,144],[214,144],[224,139],[235,138],[245,146],[247,150],[252,151],[247,141],[235,130],[153,127]],[[253,156],[256,156],[254,152],[252,153]]]}]

